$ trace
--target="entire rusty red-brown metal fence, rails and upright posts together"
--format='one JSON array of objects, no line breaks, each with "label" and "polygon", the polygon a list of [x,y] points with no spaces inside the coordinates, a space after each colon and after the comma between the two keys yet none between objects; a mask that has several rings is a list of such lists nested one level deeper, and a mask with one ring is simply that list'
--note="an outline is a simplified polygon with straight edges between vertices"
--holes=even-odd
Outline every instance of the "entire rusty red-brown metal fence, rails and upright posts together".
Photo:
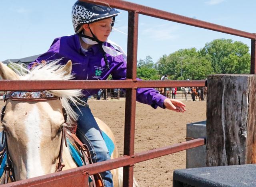
[{"label": "entire rusty red-brown metal fence, rails and upright posts together", "polygon": [[[172,22],[196,26],[208,30],[219,31],[240,37],[251,39],[251,73],[256,72],[256,34],[240,31],[170,12],[165,12],[155,8],[142,6],[139,4],[126,2],[122,0],[81,0],[95,4],[110,5],[128,11],[128,48],[127,48],[127,80],[124,81],[0,81],[0,90],[50,90],[50,89],[95,89],[95,88],[124,88],[126,89],[126,108],[124,124],[124,156],[95,163],[83,167],[52,173],[41,177],[35,177],[24,181],[6,184],[5,186],[70,186],[84,184],[88,180],[88,174],[105,171],[124,166],[123,186],[132,187],[133,182],[133,165],[140,161],[145,161],[155,157],[164,156],[181,150],[186,150],[205,144],[204,139],[196,139],[164,148],[134,154],[134,132],[135,132],[135,108],[136,108],[136,89],[141,87],[188,87],[205,86],[206,81],[137,81],[137,48],[138,48],[138,14],[152,16]],[[74,184],[74,180],[76,184]]]}]

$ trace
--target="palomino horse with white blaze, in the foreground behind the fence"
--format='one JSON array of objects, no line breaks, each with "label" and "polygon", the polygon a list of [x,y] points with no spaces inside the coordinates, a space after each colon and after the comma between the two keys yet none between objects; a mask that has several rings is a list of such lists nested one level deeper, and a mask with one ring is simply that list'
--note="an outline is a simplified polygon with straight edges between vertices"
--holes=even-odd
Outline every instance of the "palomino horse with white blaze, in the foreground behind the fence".
[{"label": "palomino horse with white blaze, in the foreground behind the fence", "polygon": [[[58,65],[58,61],[38,65],[32,71],[19,65],[13,64],[13,66],[16,66],[16,69],[20,69],[17,74],[0,62],[2,79],[70,80],[73,78],[70,75],[72,69],[71,61],[68,61],[65,66]],[[71,122],[77,119],[77,114],[72,110],[69,102],[78,104],[76,99],[82,95],[81,90],[39,92],[38,100],[22,100],[23,96],[20,98],[18,96],[18,94],[23,93],[25,98],[30,98],[32,97],[30,94],[36,94],[36,92],[19,91],[16,93],[10,92],[7,95],[4,116],[2,115],[2,128],[5,132],[4,134],[6,134],[5,140],[8,145],[6,146],[7,159],[11,160],[11,171],[12,174],[14,173],[16,181],[54,173],[58,171],[60,160],[63,160],[65,165],[62,170],[77,167],[76,162],[72,159],[70,148],[65,146],[62,137],[65,137],[65,133],[68,134],[64,130],[66,129],[65,126],[70,126]],[[68,113],[67,120],[65,120],[65,112],[63,112],[62,106],[66,108]],[[113,133],[104,122],[99,119],[96,119],[96,121],[102,131],[114,143],[114,151],[111,158],[118,157]],[[60,156],[61,150],[62,156]],[[111,172],[114,186],[121,186],[122,176],[118,176],[118,169],[113,169]],[[1,181],[3,182],[2,178]]]}]

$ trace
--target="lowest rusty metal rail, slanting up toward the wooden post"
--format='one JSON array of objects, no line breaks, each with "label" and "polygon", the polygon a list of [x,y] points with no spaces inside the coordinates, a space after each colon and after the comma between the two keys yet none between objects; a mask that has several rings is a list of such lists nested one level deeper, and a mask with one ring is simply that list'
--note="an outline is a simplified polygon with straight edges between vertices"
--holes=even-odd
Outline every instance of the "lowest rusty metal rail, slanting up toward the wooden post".
[{"label": "lowest rusty metal rail, slanting up toward the wooden post", "polygon": [[[190,140],[187,142],[182,142],[179,144],[174,144],[171,146],[165,146],[162,148],[156,148],[153,150],[141,152],[138,154],[134,154],[134,156],[123,156],[116,159],[111,159],[108,161],[102,161],[98,163],[93,163],[90,165],[77,167],[74,169],[68,169],[66,171],[61,171],[57,173],[51,173],[48,175],[34,177],[31,179],[26,179],[22,181],[16,181],[13,183],[9,183],[6,185],[2,185],[5,187],[27,187],[27,186],[70,186],[70,183],[79,186],[79,184],[84,185],[86,177],[85,175],[92,175],[95,173],[100,173],[102,171],[115,169],[118,167],[123,167],[126,165],[134,165],[135,163],[146,161],[149,159],[165,156],[168,154],[188,150],[191,148],[195,148],[198,146],[203,146],[205,144],[204,138],[198,138],[195,140]],[[74,179],[76,179],[74,181]]]}]

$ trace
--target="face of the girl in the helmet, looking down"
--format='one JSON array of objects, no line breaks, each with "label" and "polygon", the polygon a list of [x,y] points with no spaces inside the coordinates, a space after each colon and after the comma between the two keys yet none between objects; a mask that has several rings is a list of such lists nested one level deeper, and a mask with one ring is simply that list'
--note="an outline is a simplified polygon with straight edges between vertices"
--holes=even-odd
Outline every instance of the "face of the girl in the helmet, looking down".
[{"label": "face of the girl in the helmet, looking down", "polygon": [[[111,24],[112,24],[112,18],[107,18],[104,20],[100,20],[98,22],[91,23],[90,28],[94,33],[94,35],[100,41],[106,41],[112,30]],[[92,37],[92,34],[88,28],[88,24],[85,24],[84,27],[86,27],[84,28],[84,30],[86,31],[86,35],[89,35]]]}]

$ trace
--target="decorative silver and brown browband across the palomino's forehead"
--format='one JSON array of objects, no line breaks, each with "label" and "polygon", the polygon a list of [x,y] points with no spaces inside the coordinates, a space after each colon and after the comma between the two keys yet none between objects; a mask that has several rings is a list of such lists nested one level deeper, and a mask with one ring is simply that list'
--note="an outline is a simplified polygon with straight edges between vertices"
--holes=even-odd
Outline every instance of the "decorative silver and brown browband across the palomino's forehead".
[{"label": "decorative silver and brown browband across the palomino's forehead", "polygon": [[58,97],[46,91],[12,91],[5,95],[4,100],[8,98],[11,100],[39,101],[57,99]]}]

